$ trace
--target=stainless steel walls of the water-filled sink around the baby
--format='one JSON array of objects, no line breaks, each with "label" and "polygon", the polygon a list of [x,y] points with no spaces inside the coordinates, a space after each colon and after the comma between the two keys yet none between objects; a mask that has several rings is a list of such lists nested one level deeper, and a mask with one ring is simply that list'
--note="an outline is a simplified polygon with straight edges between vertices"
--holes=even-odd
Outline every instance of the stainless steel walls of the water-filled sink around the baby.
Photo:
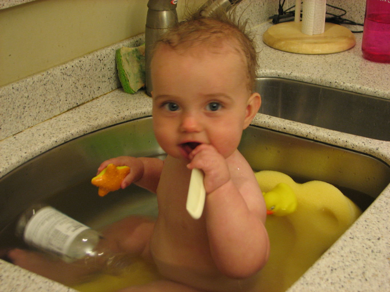
[{"label": "stainless steel walls of the water-filled sink around the baby", "polygon": [[[376,158],[257,126],[244,131],[239,150],[255,171],[284,172],[299,183],[327,181],[363,210],[390,181],[390,167]],[[165,157],[151,117],[66,142],[1,178],[0,250],[21,244],[13,235],[14,222],[34,202],[45,201],[92,228],[131,214],[156,216],[155,195],[137,186],[97,195],[90,179],[103,160],[119,155]]]}]

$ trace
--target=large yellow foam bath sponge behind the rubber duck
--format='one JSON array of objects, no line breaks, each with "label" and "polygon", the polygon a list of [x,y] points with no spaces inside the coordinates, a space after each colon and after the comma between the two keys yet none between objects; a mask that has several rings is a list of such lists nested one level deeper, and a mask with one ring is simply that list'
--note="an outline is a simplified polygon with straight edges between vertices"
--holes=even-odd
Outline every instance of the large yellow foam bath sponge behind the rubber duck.
[{"label": "large yellow foam bath sponge behind the rubber duck", "polygon": [[340,237],[361,214],[339,189],[323,181],[296,183],[277,171],[255,173],[263,192],[289,185],[298,201],[286,216],[267,216],[271,252],[262,269],[259,290],[285,291]]}]

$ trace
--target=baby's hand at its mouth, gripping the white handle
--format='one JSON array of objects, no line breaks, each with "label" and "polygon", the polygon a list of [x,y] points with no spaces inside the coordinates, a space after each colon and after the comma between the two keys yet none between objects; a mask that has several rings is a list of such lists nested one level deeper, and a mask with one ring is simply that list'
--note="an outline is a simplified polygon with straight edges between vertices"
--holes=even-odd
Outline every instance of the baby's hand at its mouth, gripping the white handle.
[{"label": "baby's hand at its mouth, gripping the white handle", "polygon": [[189,169],[198,168],[204,172],[204,188],[211,193],[230,179],[225,158],[210,144],[200,144],[191,151],[187,164]]}]

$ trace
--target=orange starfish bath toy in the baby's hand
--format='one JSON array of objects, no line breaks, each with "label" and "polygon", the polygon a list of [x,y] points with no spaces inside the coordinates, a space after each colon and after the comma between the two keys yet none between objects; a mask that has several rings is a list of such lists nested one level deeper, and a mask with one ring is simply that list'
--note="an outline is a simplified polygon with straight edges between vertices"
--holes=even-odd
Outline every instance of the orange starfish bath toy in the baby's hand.
[{"label": "orange starfish bath toy in the baby's hand", "polygon": [[99,187],[99,196],[104,197],[108,192],[119,190],[122,180],[130,172],[128,166],[108,164],[97,176],[92,178],[92,185]]}]

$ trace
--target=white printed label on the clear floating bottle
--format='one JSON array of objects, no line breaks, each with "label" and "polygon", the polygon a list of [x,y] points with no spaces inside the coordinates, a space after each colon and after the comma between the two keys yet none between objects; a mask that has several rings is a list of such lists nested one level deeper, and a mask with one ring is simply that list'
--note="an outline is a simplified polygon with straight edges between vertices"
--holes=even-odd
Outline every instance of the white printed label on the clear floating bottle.
[{"label": "white printed label on the clear floating bottle", "polygon": [[48,206],[27,222],[23,237],[27,244],[67,255],[74,238],[86,229],[89,227]]}]

